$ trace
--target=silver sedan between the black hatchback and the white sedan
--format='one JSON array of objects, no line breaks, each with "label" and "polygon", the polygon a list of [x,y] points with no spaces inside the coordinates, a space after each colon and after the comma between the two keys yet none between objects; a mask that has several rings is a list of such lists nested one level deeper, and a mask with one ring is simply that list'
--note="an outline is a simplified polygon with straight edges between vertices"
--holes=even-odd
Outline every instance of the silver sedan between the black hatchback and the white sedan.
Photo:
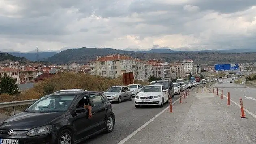
[{"label": "silver sedan between the black hatchback and the white sedan", "polygon": [[132,100],[132,91],[126,86],[113,86],[103,92],[108,101],[121,103],[124,100]]}]

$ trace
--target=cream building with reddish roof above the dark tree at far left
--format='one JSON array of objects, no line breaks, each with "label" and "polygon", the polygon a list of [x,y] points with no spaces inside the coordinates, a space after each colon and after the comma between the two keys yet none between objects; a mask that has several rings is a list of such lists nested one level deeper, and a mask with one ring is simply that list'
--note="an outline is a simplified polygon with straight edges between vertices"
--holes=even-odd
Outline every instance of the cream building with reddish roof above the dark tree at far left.
[{"label": "cream building with reddish roof above the dark tree at far left", "polygon": [[15,79],[16,84],[34,83],[34,79],[37,77],[37,70],[30,67],[21,67],[20,69],[13,69],[10,67],[4,67],[0,70],[0,75],[7,75]]}]

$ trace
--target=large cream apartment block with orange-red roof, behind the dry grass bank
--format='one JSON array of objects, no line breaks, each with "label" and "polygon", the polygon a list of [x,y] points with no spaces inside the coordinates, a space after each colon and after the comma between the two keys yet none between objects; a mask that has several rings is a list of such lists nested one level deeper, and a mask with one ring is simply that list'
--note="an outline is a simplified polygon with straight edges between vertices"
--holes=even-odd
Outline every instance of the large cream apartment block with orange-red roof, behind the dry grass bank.
[{"label": "large cream apartment block with orange-red roof, behind the dry grass bank", "polygon": [[104,57],[97,56],[96,60],[91,61],[89,74],[115,78],[122,76],[123,73],[133,72],[134,79],[146,81],[147,77],[151,77],[149,74],[152,74],[148,73],[149,69],[152,70],[152,67],[138,58],[111,54]]}]

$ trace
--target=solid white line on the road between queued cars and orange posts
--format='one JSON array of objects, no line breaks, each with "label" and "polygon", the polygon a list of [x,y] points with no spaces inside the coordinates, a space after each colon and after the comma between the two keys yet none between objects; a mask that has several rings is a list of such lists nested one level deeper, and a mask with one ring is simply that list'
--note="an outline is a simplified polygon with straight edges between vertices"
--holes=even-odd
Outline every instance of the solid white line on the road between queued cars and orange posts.
[{"label": "solid white line on the road between queued cars and orange posts", "polygon": [[[174,101],[172,104],[175,104],[177,101],[179,101],[180,99],[177,99],[176,101]],[[170,109],[170,106],[167,106],[167,108],[165,108],[164,110],[162,110],[160,113],[158,113],[157,115],[155,115],[152,119],[150,119],[149,121],[147,121],[146,123],[144,123],[144,125],[142,125],[141,127],[139,127],[137,130],[135,130],[134,132],[132,132],[130,135],[128,135],[126,138],[124,138],[123,140],[121,140],[118,144],[124,144],[127,140],[131,139],[134,135],[136,135],[139,131],[141,131],[144,127],[146,127],[149,123],[151,123],[152,121],[154,121],[154,119],[156,119],[157,117],[159,117],[159,115],[161,115],[163,112],[165,112],[167,109]]]}]

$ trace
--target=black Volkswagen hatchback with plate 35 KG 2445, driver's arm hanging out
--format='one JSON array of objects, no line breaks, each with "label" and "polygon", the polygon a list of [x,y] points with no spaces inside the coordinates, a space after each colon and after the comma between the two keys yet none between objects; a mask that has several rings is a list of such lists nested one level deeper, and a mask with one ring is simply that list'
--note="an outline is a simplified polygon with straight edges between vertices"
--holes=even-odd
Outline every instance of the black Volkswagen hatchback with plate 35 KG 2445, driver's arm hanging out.
[{"label": "black Volkswagen hatchback with plate 35 KG 2445, driver's arm hanging out", "polygon": [[[92,106],[93,117],[80,102]],[[0,125],[0,144],[76,144],[103,131],[112,132],[115,115],[103,93],[46,95]]]}]

